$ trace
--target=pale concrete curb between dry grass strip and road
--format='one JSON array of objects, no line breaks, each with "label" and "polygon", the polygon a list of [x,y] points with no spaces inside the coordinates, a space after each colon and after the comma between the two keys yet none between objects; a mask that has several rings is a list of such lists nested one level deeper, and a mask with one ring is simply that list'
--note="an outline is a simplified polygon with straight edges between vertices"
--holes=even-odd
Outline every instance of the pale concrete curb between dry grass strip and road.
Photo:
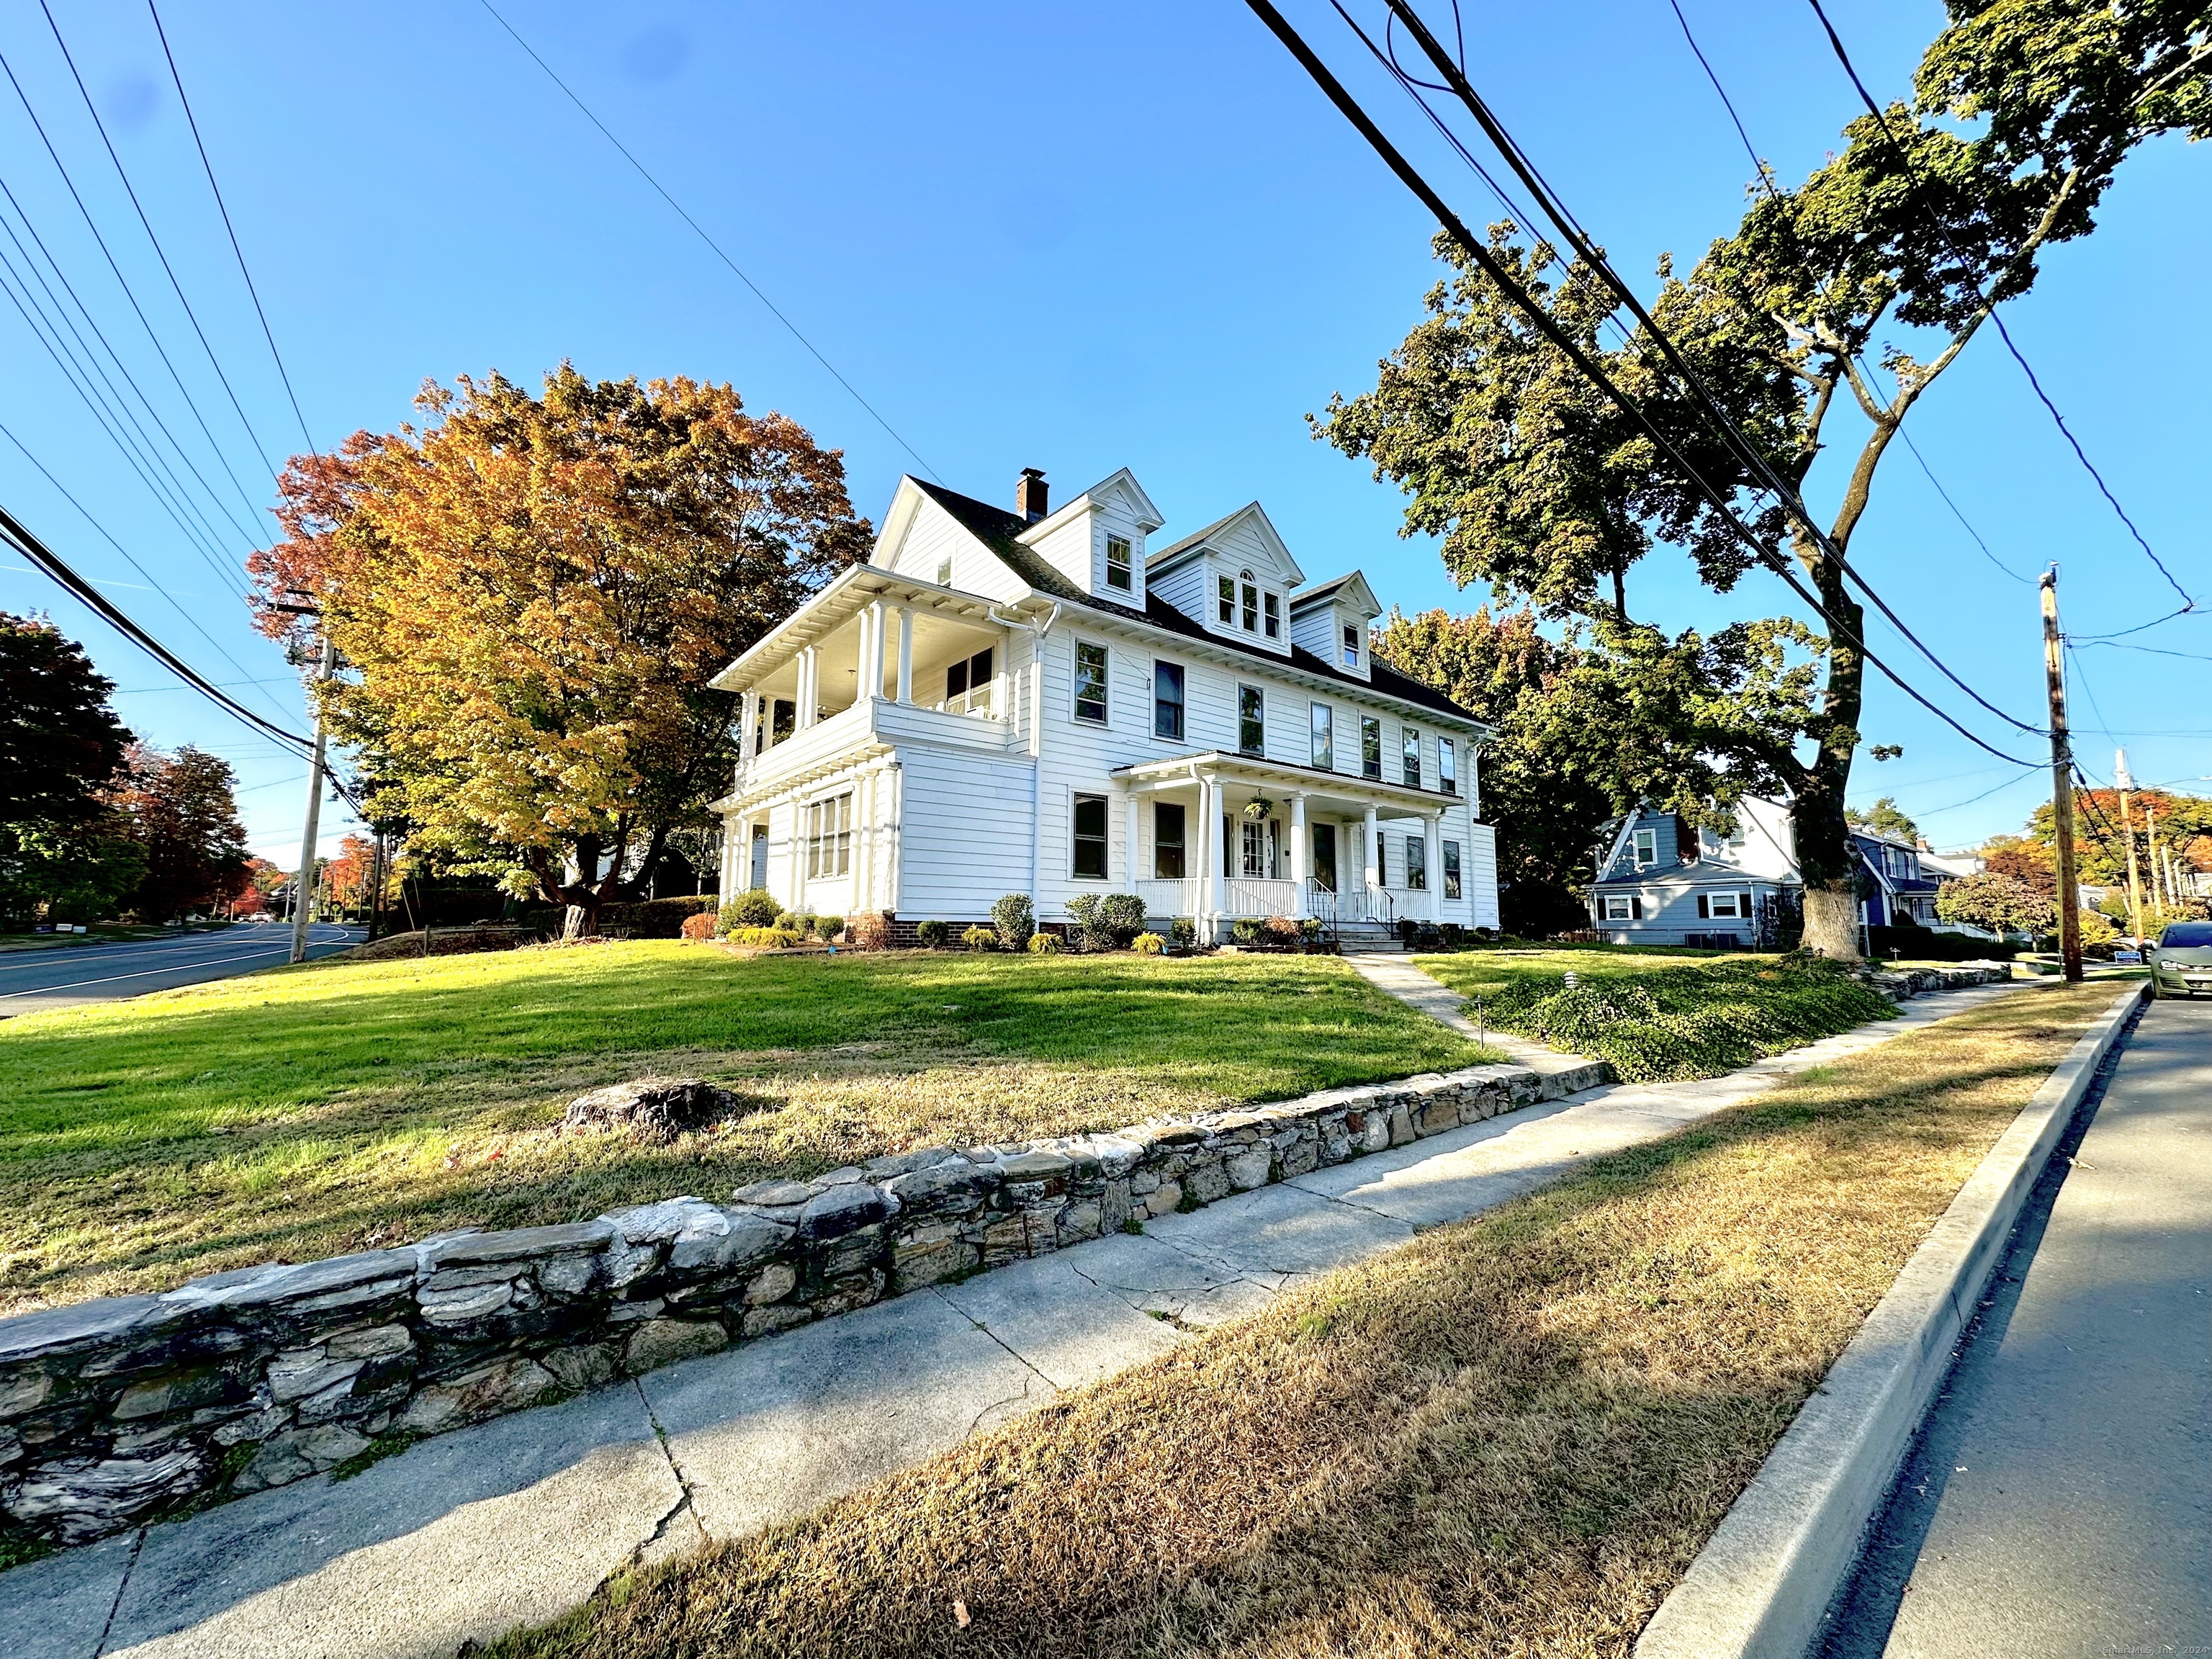
[{"label": "pale concrete curb between dry grass strip and road", "polygon": [[2148,984],[2066,1053],[1905,1263],[1690,1571],[1635,1659],[1803,1659],[1858,1562],[2013,1221]]}]

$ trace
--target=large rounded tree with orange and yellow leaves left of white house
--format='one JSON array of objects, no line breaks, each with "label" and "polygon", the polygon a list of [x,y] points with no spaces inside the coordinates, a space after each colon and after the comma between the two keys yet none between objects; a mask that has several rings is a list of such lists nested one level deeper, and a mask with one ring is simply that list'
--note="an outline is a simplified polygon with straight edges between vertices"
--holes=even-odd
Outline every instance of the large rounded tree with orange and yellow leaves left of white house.
[{"label": "large rounded tree with orange and yellow leaves left of white house", "polygon": [[[411,852],[591,931],[730,774],[708,677],[865,557],[843,451],[728,385],[491,374],[422,425],[294,458],[252,562],[270,635],[327,633],[332,732]],[[301,595],[316,615],[279,604]]]}]

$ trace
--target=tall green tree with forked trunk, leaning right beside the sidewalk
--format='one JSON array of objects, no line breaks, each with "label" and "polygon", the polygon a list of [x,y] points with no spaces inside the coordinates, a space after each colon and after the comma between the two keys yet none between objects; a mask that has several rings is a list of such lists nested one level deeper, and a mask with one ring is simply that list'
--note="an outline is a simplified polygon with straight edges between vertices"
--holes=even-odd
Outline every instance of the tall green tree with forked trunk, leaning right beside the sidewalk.
[{"label": "tall green tree with forked trunk, leaning right beside the sidewalk", "polygon": [[[2042,252],[2093,228],[2119,161],[2161,133],[2212,131],[2203,31],[2201,7],[1953,0],[1913,104],[1851,122],[1845,148],[1798,188],[1770,179],[1739,230],[1686,276],[1661,263],[1652,312],[1728,422],[1792,487],[1834,456],[1825,544],[1723,449],[1641,330],[1599,347],[1610,307],[1582,268],[1531,292],[1734,504],[1756,551],[1657,445],[1568,383],[1555,347],[1444,237],[1438,254],[1455,274],[1429,292],[1376,389],[1332,400],[1318,422],[1411,495],[1405,531],[1442,535],[1460,582],[1597,619],[1621,635],[1604,639],[1619,655],[1668,659],[1688,644],[1628,624],[1626,573],[1650,546],[1679,549],[1717,593],[1761,564],[1801,568],[1820,633],[1787,619],[1739,626],[1763,630],[1750,637],[1761,653],[1805,653],[1816,681],[1801,695],[1794,675],[1770,668],[1719,681],[1692,706],[1728,776],[1790,799],[1805,940],[1818,951],[1856,956],[1858,916],[1845,790],[1860,743],[1865,615],[1834,553],[1849,549],[1911,409],[1991,310],[2033,285]],[[1524,252],[1515,234],[1495,228],[1493,250],[1535,279],[1551,250]],[[1918,349],[1885,343],[1898,327]],[[1867,367],[1871,352],[1887,387]],[[1736,710],[1723,717],[1714,699]],[[1661,701],[1655,712],[1672,710]],[[1679,752],[1686,734],[1674,723],[1659,745]],[[1672,794],[1701,792],[1686,776]]]}]

